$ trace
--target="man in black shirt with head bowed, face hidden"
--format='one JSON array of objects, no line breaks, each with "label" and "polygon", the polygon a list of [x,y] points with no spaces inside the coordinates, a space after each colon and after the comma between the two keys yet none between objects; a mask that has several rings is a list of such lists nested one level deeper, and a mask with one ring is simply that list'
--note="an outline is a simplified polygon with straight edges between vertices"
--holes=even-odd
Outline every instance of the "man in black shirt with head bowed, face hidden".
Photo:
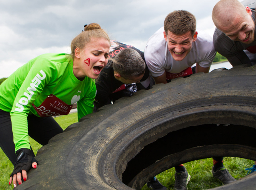
[{"label": "man in black shirt with head bowed, face hidden", "polygon": [[144,53],[133,46],[111,41],[109,62],[96,79],[94,111],[150,86]]}]

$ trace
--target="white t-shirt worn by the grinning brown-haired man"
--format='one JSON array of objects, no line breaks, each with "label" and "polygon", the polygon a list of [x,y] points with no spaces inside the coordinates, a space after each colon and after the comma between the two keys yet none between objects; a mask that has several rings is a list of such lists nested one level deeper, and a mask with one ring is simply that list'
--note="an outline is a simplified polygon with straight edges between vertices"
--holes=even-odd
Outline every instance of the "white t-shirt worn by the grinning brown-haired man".
[{"label": "white t-shirt worn by the grinning brown-haired man", "polygon": [[161,76],[164,71],[180,73],[194,63],[199,63],[204,68],[211,66],[216,55],[212,37],[204,31],[197,30],[197,32],[197,39],[192,42],[189,54],[182,61],[175,61],[164,39],[164,27],[157,30],[147,41],[144,53],[151,75]]}]

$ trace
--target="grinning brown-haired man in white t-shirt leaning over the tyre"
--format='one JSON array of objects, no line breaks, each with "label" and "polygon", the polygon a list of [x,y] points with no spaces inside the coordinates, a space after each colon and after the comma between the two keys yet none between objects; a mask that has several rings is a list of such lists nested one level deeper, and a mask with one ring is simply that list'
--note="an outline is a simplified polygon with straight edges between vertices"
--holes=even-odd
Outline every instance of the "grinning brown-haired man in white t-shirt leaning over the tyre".
[{"label": "grinning brown-haired man in white t-shirt leaning over the tyre", "polygon": [[[183,15],[181,15],[183,14]],[[147,41],[145,59],[149,71],[158,83],[168,79],[192,74],[191,66],[196,63],[196,73],[208,73],[216,55],[212,37],[196,31],[196,19],[186,19],[187,11],[174,11]],[[192,14],[191,14],[192,15]],[[175,19],[175,17],[181,19]]]}]

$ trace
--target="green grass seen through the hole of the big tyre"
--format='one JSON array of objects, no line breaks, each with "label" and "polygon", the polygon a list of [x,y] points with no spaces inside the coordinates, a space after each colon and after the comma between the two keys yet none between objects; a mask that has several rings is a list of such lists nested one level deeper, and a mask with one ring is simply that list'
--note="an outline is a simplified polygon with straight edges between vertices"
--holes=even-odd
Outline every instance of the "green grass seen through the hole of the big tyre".
[{"label": "green grass seen through the hole of the big tyre", "polygon": [[[235,158],[235,157],[224,157],[224,166],[229,170],[229,173],[236,179],[246,176],[248,172],[246,168],[252,167],[254,161]],[[191,179],[187,184],[189,190],[204,190],[214,187],[219,187],[222,183],[216,178],[212,177],[212,158],[195,160],[184,164]],[[156,177],[165,187],[173,190],[175,178],[175,169],[171,168],[166,170]],[[142,190],[149,190],[147,185],[144,185]]]}]

